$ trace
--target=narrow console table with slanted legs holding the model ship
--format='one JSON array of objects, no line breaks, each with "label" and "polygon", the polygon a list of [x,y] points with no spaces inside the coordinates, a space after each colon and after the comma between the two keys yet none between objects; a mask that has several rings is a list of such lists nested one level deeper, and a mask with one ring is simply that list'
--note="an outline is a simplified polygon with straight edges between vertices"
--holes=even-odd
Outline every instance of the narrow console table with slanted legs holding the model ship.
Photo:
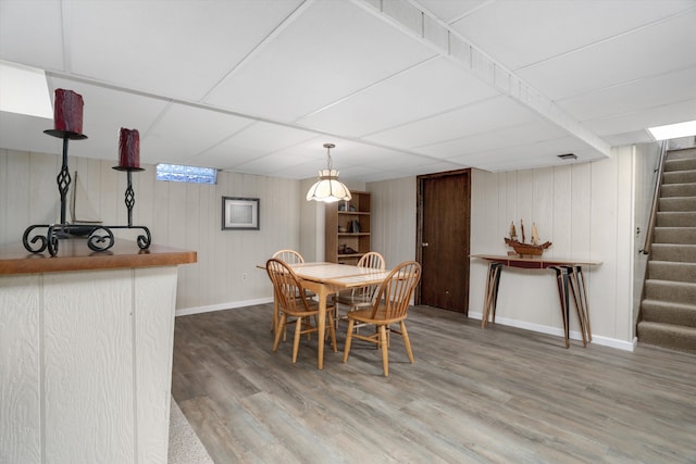
[{"label": "narrow console table with slanted legs holding the model ship", "polygon": [[485,328],[490,322],[495,322],[496,302],[498,299],[498,287],[500,285],[500,274],[504,266],[520,267],[525,269],[552,269],[556,272],[558,285],[558,297],[563,318],[563,334],[566,348],[570,347],[570,296],[573,296],[580,330],[583,338],[583,346],[586,347],[592,341],[592,329],[589,326],[589,305],[587,303],[587,289],[583,276],[583,266],[598,265],[596,261],[574,261],[554,260],[545,258],[520,258],[515,255],[497,256],[489,254],[472,254],[471,258],[478,258],[488,261],[488,275],[486,280],[486,292],[484,297],[483,317],[481,328]]}]

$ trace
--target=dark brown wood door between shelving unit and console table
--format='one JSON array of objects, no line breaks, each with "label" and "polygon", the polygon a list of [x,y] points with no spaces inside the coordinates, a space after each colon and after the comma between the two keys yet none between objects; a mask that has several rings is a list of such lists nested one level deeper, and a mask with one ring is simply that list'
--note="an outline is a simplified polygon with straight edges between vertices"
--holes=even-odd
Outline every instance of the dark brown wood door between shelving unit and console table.
[{"label": "dark brown wood door between shelving unit and console table", "polygon": [[469,314],[471,171],[419,176],[417,302]]}]

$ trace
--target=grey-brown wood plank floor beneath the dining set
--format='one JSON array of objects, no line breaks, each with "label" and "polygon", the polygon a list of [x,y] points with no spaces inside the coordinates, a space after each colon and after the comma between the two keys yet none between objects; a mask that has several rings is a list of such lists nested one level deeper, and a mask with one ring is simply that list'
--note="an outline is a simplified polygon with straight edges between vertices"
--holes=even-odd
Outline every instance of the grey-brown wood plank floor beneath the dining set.
[{"label": "grey-brown wood plank floor beneath the dining set", "polygon": [[[629,353],[412,308],[343,364],[271,351],[271,304],[176,318],[172,392],[215,463],[695,463],[696,355]],[[363,329],[364,330],[364,329]]]}]

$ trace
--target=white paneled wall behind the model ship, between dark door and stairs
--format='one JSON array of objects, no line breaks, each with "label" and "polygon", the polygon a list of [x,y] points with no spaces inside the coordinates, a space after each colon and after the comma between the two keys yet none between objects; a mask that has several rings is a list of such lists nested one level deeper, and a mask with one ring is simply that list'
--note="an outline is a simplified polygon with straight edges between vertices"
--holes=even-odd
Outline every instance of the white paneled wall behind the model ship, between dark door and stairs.
[{"label": "white paneled wall behind the model ship, between dark door and stairs", "polygon": [[[635,250],[633,149],[614,149],[602,161],[507,173],[473,171],[472,254],[507,254],[504,237],[524,221],[527,241],[536,223],[539,239],[554,244],[549,258],[600,261],[586,267],[596,342],[631,349]],[[472,260],[470,315],[481,314],[487,263]],[[504,271],[497,318],[561,334],[562,319],[551,271]],[[571,315],[571,333],[577,321]]]}]

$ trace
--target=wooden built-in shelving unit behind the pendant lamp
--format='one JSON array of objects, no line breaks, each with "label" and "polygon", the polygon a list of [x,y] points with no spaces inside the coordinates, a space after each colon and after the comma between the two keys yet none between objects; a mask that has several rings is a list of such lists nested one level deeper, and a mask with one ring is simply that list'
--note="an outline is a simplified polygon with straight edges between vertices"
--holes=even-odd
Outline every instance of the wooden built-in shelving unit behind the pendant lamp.
[{"label": "wooden built-in shelving unit behind the pendant lamp", "polygon": [[325,260],[356,264],[371,251],[370,202],[366,191],[352,191],[350,201],[326,204]]}]

